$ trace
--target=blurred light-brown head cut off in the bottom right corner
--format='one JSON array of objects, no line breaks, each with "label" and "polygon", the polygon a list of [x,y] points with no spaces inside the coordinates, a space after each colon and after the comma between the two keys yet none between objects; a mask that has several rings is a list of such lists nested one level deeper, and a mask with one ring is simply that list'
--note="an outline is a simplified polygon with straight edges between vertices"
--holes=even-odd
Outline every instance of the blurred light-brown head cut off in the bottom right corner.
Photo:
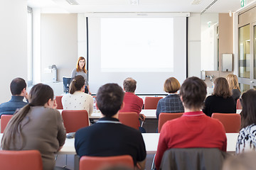
[{"label": "blurred light-brown head cut off in the bottom right corner", "polygon": [[223,162],[223,170],[252,170],[256,167],[256,152],[230,156]]}]

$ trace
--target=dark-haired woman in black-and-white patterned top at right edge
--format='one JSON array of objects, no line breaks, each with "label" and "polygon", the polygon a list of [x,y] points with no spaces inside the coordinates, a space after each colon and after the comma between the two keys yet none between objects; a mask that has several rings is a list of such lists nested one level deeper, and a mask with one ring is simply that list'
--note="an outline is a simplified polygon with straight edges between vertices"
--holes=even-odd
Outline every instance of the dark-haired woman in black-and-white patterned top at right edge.
[{"label": "dark-haired woman in black-and-white patterned top at right edge", "polygon": [[256,150],[256,91],[250,89],[241,96],[241,130],[238,135],[236,153]]}]

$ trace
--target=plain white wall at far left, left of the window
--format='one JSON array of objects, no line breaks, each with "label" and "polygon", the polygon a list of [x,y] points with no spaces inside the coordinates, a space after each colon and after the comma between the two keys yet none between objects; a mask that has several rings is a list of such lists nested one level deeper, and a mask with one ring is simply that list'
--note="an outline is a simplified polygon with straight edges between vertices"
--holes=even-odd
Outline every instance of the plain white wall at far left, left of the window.
[{"label": "plain white wall at far left, left of the window", "polygon": [[27,79],[27,2],[3,0],[0,5],[0,103],[9,101],[11,80]]}]

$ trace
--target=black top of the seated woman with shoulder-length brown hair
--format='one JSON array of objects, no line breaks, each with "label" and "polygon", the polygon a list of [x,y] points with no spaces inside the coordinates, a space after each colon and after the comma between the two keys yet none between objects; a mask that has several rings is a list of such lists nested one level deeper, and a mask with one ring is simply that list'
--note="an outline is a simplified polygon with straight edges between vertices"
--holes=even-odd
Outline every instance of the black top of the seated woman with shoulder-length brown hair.
[{"label": "black top of the seated woman with shoulder-length brown hair", "polygon": [[236,113],[235,100],[232,97],[208,96],[205,101],[203,113],[210,116],[213,113]]}]

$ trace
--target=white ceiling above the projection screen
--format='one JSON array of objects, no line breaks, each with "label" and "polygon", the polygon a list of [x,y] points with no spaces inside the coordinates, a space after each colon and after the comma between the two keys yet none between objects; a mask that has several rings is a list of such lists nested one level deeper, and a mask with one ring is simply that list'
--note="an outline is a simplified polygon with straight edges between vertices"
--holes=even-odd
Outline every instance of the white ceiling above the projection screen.
[{"label": "white ceiling above the projection screen", "polygon": [[[72,0],[74,1],[74,0]],[[28,6],[41,8],[41,13],[86,13],[86,12],[191,12],[228,13],[237,11],[240,0],[75,0],[79,5],[70,5],[66,0],[28,0]],[[198,0],[195,0],[198,1]],[[247,0],[247,3],[253,0]]]}]

